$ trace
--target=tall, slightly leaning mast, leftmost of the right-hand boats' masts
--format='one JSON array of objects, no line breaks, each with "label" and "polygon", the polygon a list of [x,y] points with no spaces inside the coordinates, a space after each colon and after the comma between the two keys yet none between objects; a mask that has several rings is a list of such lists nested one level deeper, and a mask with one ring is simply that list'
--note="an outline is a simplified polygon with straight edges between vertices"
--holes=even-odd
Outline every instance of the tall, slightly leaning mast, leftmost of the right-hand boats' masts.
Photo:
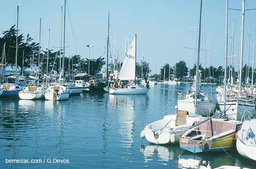
[{"label": "tall, slightly leaning mast, leftmost of the right-hand boats' masts", "polygon": [[199,59],[200,59],[201,15],[202,15],[202,0],[200,0],[199,33],[198,33],[198,49],[197,49],[197,71],[196,71],[196,91],[195,91],[195,96],[194,96],[195,113],[197,113],[197,85],[198,85],[198,71],[199,71]]}]

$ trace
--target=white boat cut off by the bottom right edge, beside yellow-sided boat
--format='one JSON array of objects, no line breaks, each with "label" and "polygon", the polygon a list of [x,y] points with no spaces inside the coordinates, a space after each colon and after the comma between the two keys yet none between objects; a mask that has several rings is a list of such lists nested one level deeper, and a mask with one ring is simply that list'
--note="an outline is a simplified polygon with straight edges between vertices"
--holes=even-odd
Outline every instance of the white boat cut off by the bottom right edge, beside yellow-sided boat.
[{"label": "white boat cut off by the bottom right edge, beside yellow-sided boat", "polygon": [[256,161],[256,119],[244,121],[237,132],[237,151],[243,157]]}]

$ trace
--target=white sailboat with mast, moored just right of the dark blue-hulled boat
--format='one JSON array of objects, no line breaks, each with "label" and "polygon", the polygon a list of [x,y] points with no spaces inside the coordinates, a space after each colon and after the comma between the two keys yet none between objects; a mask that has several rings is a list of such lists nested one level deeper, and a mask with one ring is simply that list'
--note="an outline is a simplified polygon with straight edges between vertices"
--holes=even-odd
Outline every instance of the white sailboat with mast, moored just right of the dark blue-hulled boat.
[{"label": "white sailboat with mast, moored just right of the dark blue-hulled boat", "polygon": [[[41,41],[41,18],[40,18],[40,33],[39,33],[39,46],[38,46],[38,73],[40,72],[40,41]],[[49,50],[49,49],[48,49]],[[48,52],[49,54],[49,52]],[[39,86],[39,78],[37,79],[37,86],[28,86],[19,92],[19,99],[33,100],[43,99],[45,89]]]}]

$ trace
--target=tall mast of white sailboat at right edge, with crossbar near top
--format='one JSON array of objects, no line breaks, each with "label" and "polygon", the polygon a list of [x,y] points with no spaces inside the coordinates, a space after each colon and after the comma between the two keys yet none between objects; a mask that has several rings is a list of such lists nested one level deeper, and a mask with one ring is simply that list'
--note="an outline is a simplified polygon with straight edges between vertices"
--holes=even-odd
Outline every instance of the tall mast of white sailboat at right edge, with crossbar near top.
[{"label": "tall mast of white sailboat at right edge, with crossbar near top", "polygon": [[243,66],[243,47],[244,47],[244,0],[242,0],[242,33],[241,33],[241,49],[240,49],[240,65],[239,65],[239,95],[242,91],[242,66]]}]

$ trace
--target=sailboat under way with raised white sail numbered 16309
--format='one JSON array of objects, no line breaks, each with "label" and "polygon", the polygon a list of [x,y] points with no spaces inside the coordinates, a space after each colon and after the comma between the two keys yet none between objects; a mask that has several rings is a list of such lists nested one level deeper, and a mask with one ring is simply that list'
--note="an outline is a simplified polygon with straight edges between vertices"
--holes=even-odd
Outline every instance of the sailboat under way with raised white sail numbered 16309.
[{"label": "sailboat under way with raised white sail numbered 16309", "polygon": [[136,35],[133,39],[126,58],[123,61],[122,68],[119,73],[119,80],[134,80],[134,85],[127,85],[125,88],[115,88],[109,90],[109,94],[147,94],[149,88],[142,88],[136,85],[135,77],[135,63],[136,63]]}]

